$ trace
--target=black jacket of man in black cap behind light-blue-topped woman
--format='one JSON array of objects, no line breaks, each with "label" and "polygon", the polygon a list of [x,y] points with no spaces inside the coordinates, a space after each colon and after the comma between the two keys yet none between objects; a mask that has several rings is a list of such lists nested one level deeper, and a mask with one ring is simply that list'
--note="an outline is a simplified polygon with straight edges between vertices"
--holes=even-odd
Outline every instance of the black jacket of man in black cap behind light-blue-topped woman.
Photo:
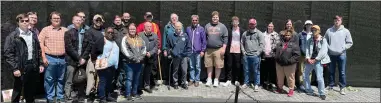
[{"label": "black jacket of man in black cap behind light-blue-topped woman", "polygon": [[[103,37],[104,37],[103,32],[104,32],[103,27],[101,27],[100,29],[95,29],[93,25],[90,27],[89,30],[85,32],[84,38],[86,39],[83,40],[83,44],[82,44],[82,47],[85,47],[85,51],[83,52],[84,59],[88,60],[90,58],[89,55],[91,54],[93,46],[96,45],[97,41],[99,40],[103,41]],[[98,49],[103,50],[103,45],[100,47],[101,48],[98,48]],[[101,51],[99,54],[102,54],[102,52],[103,51]],[[96,57],[94,60],[96,60]]]}]

